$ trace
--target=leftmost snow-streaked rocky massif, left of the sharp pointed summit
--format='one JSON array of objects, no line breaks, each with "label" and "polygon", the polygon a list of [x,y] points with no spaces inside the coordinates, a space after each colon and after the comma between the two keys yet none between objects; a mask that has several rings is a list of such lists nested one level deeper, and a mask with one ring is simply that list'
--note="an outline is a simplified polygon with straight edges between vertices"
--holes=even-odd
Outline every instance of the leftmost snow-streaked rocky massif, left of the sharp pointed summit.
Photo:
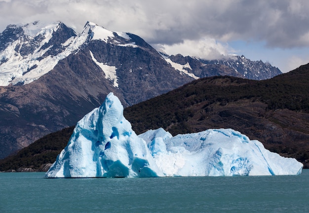
[{"label": "leftmost snow-streaked rocky massif, left of the sharp pointed summit", "polygon": [[0,85],[37,80],[77,49],[69,43],[77,34],[62,23],[9,25],[0,34]]}]

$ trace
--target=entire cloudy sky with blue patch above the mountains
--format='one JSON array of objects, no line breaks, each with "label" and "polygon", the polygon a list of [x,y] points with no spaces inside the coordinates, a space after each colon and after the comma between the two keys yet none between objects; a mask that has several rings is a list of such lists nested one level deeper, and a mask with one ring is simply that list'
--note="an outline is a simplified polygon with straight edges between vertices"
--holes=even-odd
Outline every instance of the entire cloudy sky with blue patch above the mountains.
[{"label": "entire cloudy sky with blue patch above the mountains", "polygon": [[141,36],[169,55],[244,55],[282,72],[309,63],[309,0],[0,0],[9,24],[87,21]]}]

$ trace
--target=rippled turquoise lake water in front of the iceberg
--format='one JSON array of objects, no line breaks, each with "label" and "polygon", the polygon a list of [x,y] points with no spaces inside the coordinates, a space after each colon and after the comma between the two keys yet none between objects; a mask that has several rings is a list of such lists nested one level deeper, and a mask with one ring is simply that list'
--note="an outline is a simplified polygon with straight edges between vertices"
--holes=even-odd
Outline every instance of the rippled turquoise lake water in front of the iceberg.
[{"label": "rippled turquoise lake water in front of the iceberg", "polygon": [[0,213],[309,212],[300,176],[47,179],[0,173]]}]

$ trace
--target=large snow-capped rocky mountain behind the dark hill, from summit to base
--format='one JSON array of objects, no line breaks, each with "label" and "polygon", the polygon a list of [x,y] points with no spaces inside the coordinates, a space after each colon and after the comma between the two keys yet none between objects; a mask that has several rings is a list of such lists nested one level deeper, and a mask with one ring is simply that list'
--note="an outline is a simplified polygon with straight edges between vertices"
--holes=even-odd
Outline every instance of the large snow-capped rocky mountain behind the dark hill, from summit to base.
[{"label": "large snow-capped rocky mountain behind the dark hill, from summit to base", "polygon": [[233,71],[197,59],[185,65],[139,36],[91,22],[80,34],[61,22],[7,26],[0,34],[0,158],[74,125],[110,92],[131,106],[207,75],[204,67],[210,75]]}]

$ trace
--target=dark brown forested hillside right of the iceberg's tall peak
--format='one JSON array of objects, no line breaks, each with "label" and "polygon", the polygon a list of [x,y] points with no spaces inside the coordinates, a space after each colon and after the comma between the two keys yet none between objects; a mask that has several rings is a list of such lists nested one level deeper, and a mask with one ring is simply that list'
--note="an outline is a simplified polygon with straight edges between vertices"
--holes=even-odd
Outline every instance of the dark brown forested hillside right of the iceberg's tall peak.
[{"label": "dark brown forested hillside right of the iceberg's tall peak", "polygon": [[[198,79],[127,107],[124,116],[137,134],[159,127],[172,135],[232,128],[309,168],[309,64],[263,81]],[[4,161],[0,170],[17,168],[4,167]]]}]

